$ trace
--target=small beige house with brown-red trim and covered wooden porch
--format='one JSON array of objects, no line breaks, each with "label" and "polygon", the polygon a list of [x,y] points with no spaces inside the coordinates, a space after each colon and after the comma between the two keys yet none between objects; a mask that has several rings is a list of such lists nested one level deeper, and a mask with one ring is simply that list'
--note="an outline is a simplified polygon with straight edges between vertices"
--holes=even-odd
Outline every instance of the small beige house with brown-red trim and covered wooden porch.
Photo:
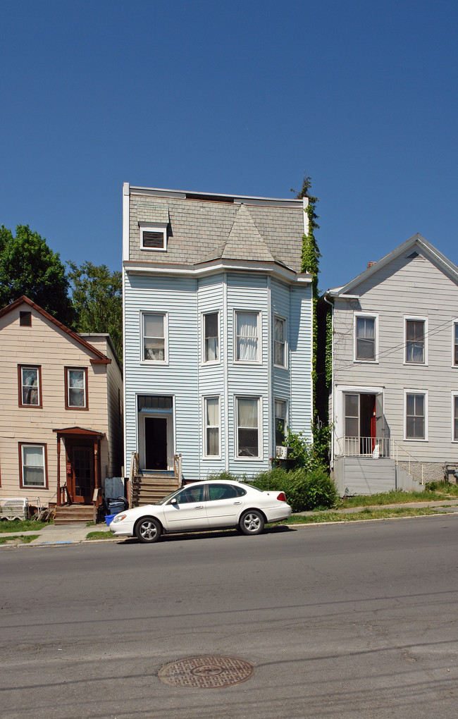
[{"label": "small beige house with brown-red trim and covered wooden porch", "polygon": [[0,311],[0,498],[102,502],[122,468],[122,370],[108,334],[76,334],[21,297]]}]

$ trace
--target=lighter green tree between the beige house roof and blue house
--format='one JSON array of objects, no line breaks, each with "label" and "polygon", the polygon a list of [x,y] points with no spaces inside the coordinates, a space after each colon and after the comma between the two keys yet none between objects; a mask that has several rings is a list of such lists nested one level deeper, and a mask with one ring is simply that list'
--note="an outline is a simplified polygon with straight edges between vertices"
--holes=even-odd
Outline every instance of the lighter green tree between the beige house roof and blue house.
[{"label": "lighter green tree between the beige house roof and blue house", "polygon": [[106,265],[68,262],[76,331],[108,332],[122,362],[122,275]]}]

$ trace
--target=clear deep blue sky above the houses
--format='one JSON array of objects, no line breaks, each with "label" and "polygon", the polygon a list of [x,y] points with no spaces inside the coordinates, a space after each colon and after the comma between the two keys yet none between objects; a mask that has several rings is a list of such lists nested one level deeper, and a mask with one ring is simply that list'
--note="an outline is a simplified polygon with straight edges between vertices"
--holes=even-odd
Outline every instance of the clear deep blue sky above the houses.
[{"label": "clear deep blue sky above the houses", "polygon": [[318,196],[321,290],[458,263],[453,0],[0,0],[0,224],[121,267],[122,183]]}]

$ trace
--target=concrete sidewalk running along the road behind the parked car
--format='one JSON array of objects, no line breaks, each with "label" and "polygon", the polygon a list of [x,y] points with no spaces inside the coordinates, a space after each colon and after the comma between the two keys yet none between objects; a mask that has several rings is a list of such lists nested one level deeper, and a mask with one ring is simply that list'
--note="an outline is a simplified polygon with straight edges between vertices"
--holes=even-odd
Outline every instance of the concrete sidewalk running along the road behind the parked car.
[{"label": "concrete sidewalk running along the road behind the parked car", "polygon": [[[343,509],[335,509],[335,510],[325,510],[327,512],[337,512],[337,513],[357,513],[362,512],[365,509],[370,510],[377,510],[377,509],[393,509],[396,507],[408,507],[408,508],[422,508],[422,507],[429,507],[431,509],[436,508],[437,510],[440,510],[441,512],[452,512],[452,513],[458,513],[458,499],[450,499],[450,500],[438,500],[434,502],[410,502],[410,503],[404,503],[404,504],[385,504],[385,505],[368,505],[367,507],[349,507],[349,508],[343,508]],[[296,513],[296,516],[310,516],[310,515],[316,515],[316,512],[298,512]],[[295,525],[298,526],[297,524]],[[8,544],[0,545],[0,549],[2,546],[58,546],[60,544],[81,544],[83,541],[88,542],[94,542],[94,541],[109,541],[109,539],[106,539],[105,537],[100,540],[96,539],[89,539],[86,540],[86,537],[88,536],[88,533],[90,532],[105,532],[107,535],[110,536],[111,541],[123,541],[123,537],[115,537],[111,536],[111,532],[109,528],[106,526],[106,524],[95,524],[93,526],[79,526],[76,524],[70,524],[70,525],[55,525],[55,524],[48,524],[47,526],[43,527],[42,529],[36,529],[36,530],[30,530],[25,532],[11,532],[12,536],[32,536],[35,534],[38,534],[39,536],[37,539],[33,539],[29,544],[22,544],[22,542],[17,540],[12,540]],[[7,539],[9,532],[1,532],[0,537],[4,537]]]}]

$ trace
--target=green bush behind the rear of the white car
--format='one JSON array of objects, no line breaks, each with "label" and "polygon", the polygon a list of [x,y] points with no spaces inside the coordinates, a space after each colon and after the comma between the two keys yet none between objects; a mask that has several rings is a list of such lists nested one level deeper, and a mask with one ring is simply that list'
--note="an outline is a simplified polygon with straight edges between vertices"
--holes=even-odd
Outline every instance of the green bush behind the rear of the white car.
[{"label": "green bush behind the rear of the white car", "polygon": [[260,490],[284,492],[293,512],[329,508],[337,500],[336,485],[324,467],[309,472],[304,467],[290,472],[275,467],[256,475],[252,484]]}]

